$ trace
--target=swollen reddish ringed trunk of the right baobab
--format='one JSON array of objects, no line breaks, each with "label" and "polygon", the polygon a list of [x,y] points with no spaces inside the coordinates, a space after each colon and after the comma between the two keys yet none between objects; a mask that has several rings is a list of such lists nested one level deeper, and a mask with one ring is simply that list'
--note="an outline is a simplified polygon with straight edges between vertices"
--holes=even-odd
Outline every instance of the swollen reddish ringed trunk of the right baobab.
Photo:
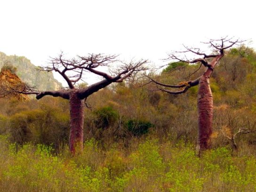
[{"label": "swollen reddish ringed trunk of the right baobab", "polygon": [[210,147],[210,136],[213,125],[213,98],[209,76],[204,74],[199,81],[198,90],[198,141],[197,153]]}]

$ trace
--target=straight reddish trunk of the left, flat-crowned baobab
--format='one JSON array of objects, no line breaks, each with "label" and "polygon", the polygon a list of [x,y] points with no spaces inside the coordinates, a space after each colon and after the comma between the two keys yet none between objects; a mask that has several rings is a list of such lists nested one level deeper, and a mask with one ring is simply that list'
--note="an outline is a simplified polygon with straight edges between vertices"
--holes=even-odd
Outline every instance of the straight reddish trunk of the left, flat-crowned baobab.
[{"label": "straight reddish trunk of the left, flat-crowned baobab", "polygon": [[70,92],[70,138],[69,150],[75,154],[76,150],[83,150],[84,107],[78,97],[77,90]]}]

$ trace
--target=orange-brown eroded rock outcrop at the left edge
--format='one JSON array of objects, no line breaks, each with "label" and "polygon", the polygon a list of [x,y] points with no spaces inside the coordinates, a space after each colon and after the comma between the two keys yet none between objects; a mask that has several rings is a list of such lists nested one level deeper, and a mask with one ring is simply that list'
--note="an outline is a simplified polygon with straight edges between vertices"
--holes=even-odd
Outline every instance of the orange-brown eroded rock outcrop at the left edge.
[{"label": "orange-brown eroded rock outcrop at the left edge", "polygon": [[24,82],[13,72],[8,69],[2,69],[0,71],[0,98],[12,98],[15,97],[19,101],[27,101],[29,97],[24,94],[20,94],[14,91],[22,91]]}]

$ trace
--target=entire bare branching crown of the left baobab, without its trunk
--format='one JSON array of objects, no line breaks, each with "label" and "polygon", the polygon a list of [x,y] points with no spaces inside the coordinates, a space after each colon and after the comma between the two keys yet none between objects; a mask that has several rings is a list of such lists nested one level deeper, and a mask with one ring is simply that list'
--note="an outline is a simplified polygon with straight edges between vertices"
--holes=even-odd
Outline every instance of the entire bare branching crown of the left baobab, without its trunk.
[{"label": "entire bare branching crown of the left baobab, without its trunk", "polygon": [[[22,94],[35,94],[37,99],[42,98],[43,96],[60,96],[64,99],[69,99],[69,93],[75,89],[75,84],[82,80],[86,72],[91,72],[96,75],[103,77],[103,80],[92,84],[86,88],[78,89],[78,95],[80,99],[84,99],[91,95],[92,93],[98,91],[101,88],[106,87],[107,85],[113,82],[122,82],[128,78],[133,72],[143,71],[146,68],[147,60],[139,60],[137,62],[131,61],[130,63],[124,63],[117,59],[116,55],[104,55],[104,54],[88,54],[88,56],[77,56],[72,59],[64,58],[63,53],[59,56],[51,58],[48,66],[40,67],[38,70],[47,71],[47,72],[57,72],[59,73],[68,84],[68,89],[61,89],[56,91],[44,91],[39,92],[35,91],[28,86],[24,86],[21,90],[16,90],[13,88],[12,91],[16,91]],[[117,70],[114,74],[108,74],[97,70],[101,67],[109,67],[113,63],[120,63]]]}]

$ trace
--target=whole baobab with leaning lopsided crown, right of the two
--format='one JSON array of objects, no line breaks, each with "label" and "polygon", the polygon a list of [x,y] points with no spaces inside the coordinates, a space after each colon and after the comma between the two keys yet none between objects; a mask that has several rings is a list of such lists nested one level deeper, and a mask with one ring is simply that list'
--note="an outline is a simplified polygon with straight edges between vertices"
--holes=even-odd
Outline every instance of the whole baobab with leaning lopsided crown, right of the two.
[{"label": "whole baobab with leaning lopsided crown, right of the two", "polygon": [[[157,85],[156,90],[164,91],[169,94],[183,94],[189,88],[199,85],[197,105],[198,105],[198,141],[197,141],[197,153],[200,154],[201,150],[208,149],[210,147],[210,136],[212,134],[213,127],[213,97],[210,88],[210,76],[213,70],[224,56],[225,50],[235,45],[240,45],[243,41],[228,39],[227,37],[220,40],[209,40],[206,42],[211,48],[211,54],[206,54],[200,50],[200,48],[189,48],[184,46],[184,51],[176,51],[168,54],[167,60],[176,62],[183,62],[187,64],[200,63],[200,67],[203,65],[206,67],[205,72],[196,80],[189,80],[182,82],[178,85],[168,85],[161,83],[148,77],[151,82]],[[188,59],[187,56],[181,57],[182,54],[192,55],[192,59]],[[197,56],[197,57],[194,57]],[[198,69],[199,70],[199,69]],[[197,71],[198,71],[197,70]],[[195,72],[194,72],[195,73]],[[193,74],[194,74],[193,73]],[[161,87],[160,87],[161,86]],[[182,88],[182,90],[173,91],[166,88]]]}]

